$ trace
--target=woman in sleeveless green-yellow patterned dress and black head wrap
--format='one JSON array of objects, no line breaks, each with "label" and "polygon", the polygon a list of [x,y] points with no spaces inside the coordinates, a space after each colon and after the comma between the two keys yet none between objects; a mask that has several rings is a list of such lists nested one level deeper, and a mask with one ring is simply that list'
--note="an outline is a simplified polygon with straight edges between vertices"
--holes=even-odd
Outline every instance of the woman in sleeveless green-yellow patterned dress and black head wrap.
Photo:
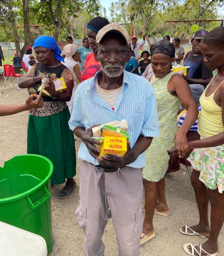
[{"label": "woman in sleeveless green-yellow patterned dress and black head wrap", "polygon": [[[155,236],[152,223],[154,213],[163,216],[169,215],[164,178],[169,160],[166,150],[175,145],[180,157],[187,153],[186,133],[198,117],[198,107],[191,95],[189,85],[182,75],[175,74],[170,70],[170,65],[175,57],[173,44],[161,40],[151,47],[150,52],[154,72],[151,84],[156,94],[159,137],[154,138],[151,146],[145,151],[146,166],[143,169],[145,219],[140,239],[141,244]],[[177,113],[181,103],[187,109],[187,116],[178,129]]]}]

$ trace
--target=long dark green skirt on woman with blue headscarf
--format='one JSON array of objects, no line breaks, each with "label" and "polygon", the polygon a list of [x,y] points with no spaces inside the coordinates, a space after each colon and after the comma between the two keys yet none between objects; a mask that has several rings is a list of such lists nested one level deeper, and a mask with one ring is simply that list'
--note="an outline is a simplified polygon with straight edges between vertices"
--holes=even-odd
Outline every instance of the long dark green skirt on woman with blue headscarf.
[{"label": "long dark green skirt on woman with blue headscarf", "polygon": [[52,161],[51,184],[62,184],[76,174],[75,141],[69,119],[68,107],[51,116],[29,115],[27,153],[46,156]]}]

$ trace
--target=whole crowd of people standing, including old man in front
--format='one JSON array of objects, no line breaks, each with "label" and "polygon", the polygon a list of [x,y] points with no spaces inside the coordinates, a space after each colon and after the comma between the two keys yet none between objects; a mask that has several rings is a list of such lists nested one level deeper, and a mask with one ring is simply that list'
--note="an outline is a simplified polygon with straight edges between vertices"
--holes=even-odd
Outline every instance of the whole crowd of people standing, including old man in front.
[{"label": "whole crowd of people standing, including old man in front", "polygon": [[[215,256],[224,223],[224,28],[195,32],[192,51],[185,58],[180,39],[171,43],[168,35],[153,44],[150,53],[139,55],[145,35],[140,44],[136,36],[129,42],[121,25],[102,17],[89,21],[87,35],[82,47],[75,46],[68,36],[63,55],[52,37],[38,37],[33,49],[39,63],[19,81],[30,98],[23,107],[9,111],[0,108],[0,115],[29,110],[27,153],[46,156],[53,162],[51,183],[65,182],[59,198],[69,196],[76,186],[74,134],[82,140],[78,153],[82,160],[80,201],[75,215],[84,231],[86,256],[104,254],[101,237],[108,208],[119,255],[140,256],[140,245],[156,235],[154,214],[170,214],[165,197],[170,158],[166,151],[174,147],[172,157],[179,158],[192,151],[188,160],[194,168],[191,182],[200,221],[180,228],[180,232],[208,239],[201,245],[185,244],[184,251],[192,256]],[[183,59],[189,66],[187,75],[172,72],[170,65]],[[55,89],[58,78],[65,81],[63,92]],[[44,91],[40,93],[41,84]],[[198,88],[201,93],[196,97]],[[200,98],[199,119],[196,98]],[[187,113],[179,127],[180,107]],[[126,119],[131,137],[127,153],[123,158],[109,154],[100,157],[92,128],[122,119]],[[187,132],[197,119],[201,139],[188,142]]]}]

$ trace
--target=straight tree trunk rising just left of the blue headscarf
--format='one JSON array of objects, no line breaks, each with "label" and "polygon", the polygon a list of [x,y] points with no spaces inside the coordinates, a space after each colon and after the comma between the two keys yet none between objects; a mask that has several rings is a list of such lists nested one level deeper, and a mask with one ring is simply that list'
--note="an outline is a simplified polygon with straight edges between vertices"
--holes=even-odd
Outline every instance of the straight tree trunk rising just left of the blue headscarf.
[{"label": "straight tree trunk rising just left of the blue headscarf", "polygon": [[25,42],[21,52],[22,54],[24,54],[27,46],[33,46],[34,38],[30,31],[29,0],[22,0],[22,2],[23,2],[23,25],[24,25]]}]

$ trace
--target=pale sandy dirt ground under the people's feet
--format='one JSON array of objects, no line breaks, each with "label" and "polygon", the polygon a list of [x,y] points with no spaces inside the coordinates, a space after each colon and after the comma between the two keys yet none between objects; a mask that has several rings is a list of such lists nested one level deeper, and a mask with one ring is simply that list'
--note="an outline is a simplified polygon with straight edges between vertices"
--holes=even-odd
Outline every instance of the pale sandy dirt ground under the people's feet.
[{"label": "pale sandy dirt ground under the people's feet", "polygon": [[[2,88],[0,79],[0,88]],[[0,97],[0,104],[24,103],[28,96],[26,89],[15,91],[12,83],[7,82],[6,88]],[[1,90],[2,91],[2,90]],[[28,112],[13,116],[0,117],[0,166],[17,154],[26,154],[26,131]],[[80,140],[75,141],[76,151]],[[84,251],[84,235],[75,219],[75,210],[79,200],[79,165],[77,159],[77,187],[65,199],[58,199],[59,190],[63,184],[53,186],[51,190],[51,210],[53,220],[54,247],[50,256],[82,256]],[[170,207],[170,216],[154,216],[156,237],[141,246],[142,256],[184,256],[183,244],[205,242],[199,236],[186,236],[179,229],[186,225],[198,223],[198,210],[191,187],[190,177],[185,167],[179,172],[166,176],[166,195]],[[210,211],[209,211],[210,212]],[[219,255],[224,255],[224,232],[219,236]],[[118,254],[116,235],[112,219],[108,220],[103,235],[105,243],[104,256]]]}]

